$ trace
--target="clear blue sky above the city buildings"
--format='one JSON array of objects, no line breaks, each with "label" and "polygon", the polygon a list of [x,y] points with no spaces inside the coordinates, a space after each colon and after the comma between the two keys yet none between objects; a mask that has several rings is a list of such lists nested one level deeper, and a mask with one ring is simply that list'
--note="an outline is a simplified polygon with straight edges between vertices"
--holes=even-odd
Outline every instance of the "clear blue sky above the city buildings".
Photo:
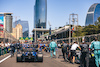
[{"label": "clear blue sky above the city buildings", "polygon": [[[48,21],[51,28],[64,26],[69,23],[69,14],[78,14],[78,24],[85,25],[86,14],[89,7],[100,0],[47,0],[47,29]],[[17,20],[28,21],[29,33],[34,28],[35,0],[0,0],[0,12],[13,13],[13,22]]]}]

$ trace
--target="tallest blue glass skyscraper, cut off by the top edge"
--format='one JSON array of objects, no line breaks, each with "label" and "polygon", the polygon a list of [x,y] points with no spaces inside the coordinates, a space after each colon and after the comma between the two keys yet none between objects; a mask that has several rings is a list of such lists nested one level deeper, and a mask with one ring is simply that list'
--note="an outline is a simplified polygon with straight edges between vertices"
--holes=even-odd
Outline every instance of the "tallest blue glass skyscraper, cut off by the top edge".
[{"label": "tallest blue glass skyscraper, cut off by the top edge", "polygon": [[34,6],[34,28],[46,28],[47,0],[36,0]]}]

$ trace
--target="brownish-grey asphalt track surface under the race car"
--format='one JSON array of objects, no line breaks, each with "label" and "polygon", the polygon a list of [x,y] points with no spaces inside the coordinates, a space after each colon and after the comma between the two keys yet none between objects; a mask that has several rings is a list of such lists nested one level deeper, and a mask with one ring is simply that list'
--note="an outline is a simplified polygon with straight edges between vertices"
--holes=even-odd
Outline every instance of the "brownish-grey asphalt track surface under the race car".
[{"label": "brownish-grey asphalt track surface under the race car", "polygon": [[0,63],[0,67],[79,67],[78,64],[64,62],[63,58],[50,58],[50,53],[43,53],[43,62],[16,62],[16,55]]}]

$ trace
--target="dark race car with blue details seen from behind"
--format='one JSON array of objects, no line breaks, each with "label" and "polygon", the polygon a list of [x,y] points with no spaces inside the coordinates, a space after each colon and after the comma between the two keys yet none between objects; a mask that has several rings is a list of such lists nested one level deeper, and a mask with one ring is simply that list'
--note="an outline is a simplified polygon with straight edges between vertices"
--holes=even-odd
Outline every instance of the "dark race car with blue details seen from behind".
[{"label": "dark race car with blue details seen from behind", "polygon": [[24,61],[35,61],[35,62],[43,62],[43,54],[41,51],[38,51],[37,48],[34,47],[24,47],[21,51],[17,52],[16,55],[17,62]]}]

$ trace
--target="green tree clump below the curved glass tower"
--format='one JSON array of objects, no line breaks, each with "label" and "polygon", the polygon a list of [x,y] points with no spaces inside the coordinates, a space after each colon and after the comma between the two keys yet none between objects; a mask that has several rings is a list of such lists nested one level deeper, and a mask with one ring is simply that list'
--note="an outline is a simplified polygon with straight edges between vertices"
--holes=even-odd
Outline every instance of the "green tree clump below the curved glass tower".
[{"label": "green tree clump below the curved glass tower", "polygon": [[76,31],[73,32],[73,37],[85,36],[100,33],[100,24],[88,25],[85,27],[78,26]]}]

